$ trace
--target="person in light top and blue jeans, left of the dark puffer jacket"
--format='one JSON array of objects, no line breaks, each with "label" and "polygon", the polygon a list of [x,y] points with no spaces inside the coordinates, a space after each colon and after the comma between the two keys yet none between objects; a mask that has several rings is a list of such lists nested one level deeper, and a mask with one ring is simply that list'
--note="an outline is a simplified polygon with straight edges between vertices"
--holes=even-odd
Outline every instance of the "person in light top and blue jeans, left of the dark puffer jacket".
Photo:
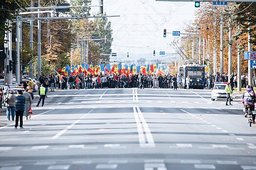
[{"label": "person in light top and blue jeans, left of the dark puffer jacket", "polygon": [[7,120],[10,120],[10,111],[12,113],[12,120],[14,121],[14,117],[15,117],[15,95],[13,94],[14,91],[10,90],[10,94],[8,94],[6,96],[6,98],[8,98],[7,102],[5,102],[5,106],[6,108],[6,116],[7,116]]}]

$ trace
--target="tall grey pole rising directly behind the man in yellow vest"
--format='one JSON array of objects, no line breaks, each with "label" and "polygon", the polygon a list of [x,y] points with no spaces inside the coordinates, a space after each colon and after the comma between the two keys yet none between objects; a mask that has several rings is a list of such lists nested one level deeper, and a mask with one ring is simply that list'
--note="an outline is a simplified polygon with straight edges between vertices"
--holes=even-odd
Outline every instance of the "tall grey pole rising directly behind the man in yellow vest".
[{"label": "tall grey pole rising directly behind the man in yellow vest", "polygon": [[[38,7],[40,7],[40,0],[38,0]],[[40,9],[38,9],[38,17],[40,18]],[[41,21],[38,20],[38,79],[41,75]]]}]

